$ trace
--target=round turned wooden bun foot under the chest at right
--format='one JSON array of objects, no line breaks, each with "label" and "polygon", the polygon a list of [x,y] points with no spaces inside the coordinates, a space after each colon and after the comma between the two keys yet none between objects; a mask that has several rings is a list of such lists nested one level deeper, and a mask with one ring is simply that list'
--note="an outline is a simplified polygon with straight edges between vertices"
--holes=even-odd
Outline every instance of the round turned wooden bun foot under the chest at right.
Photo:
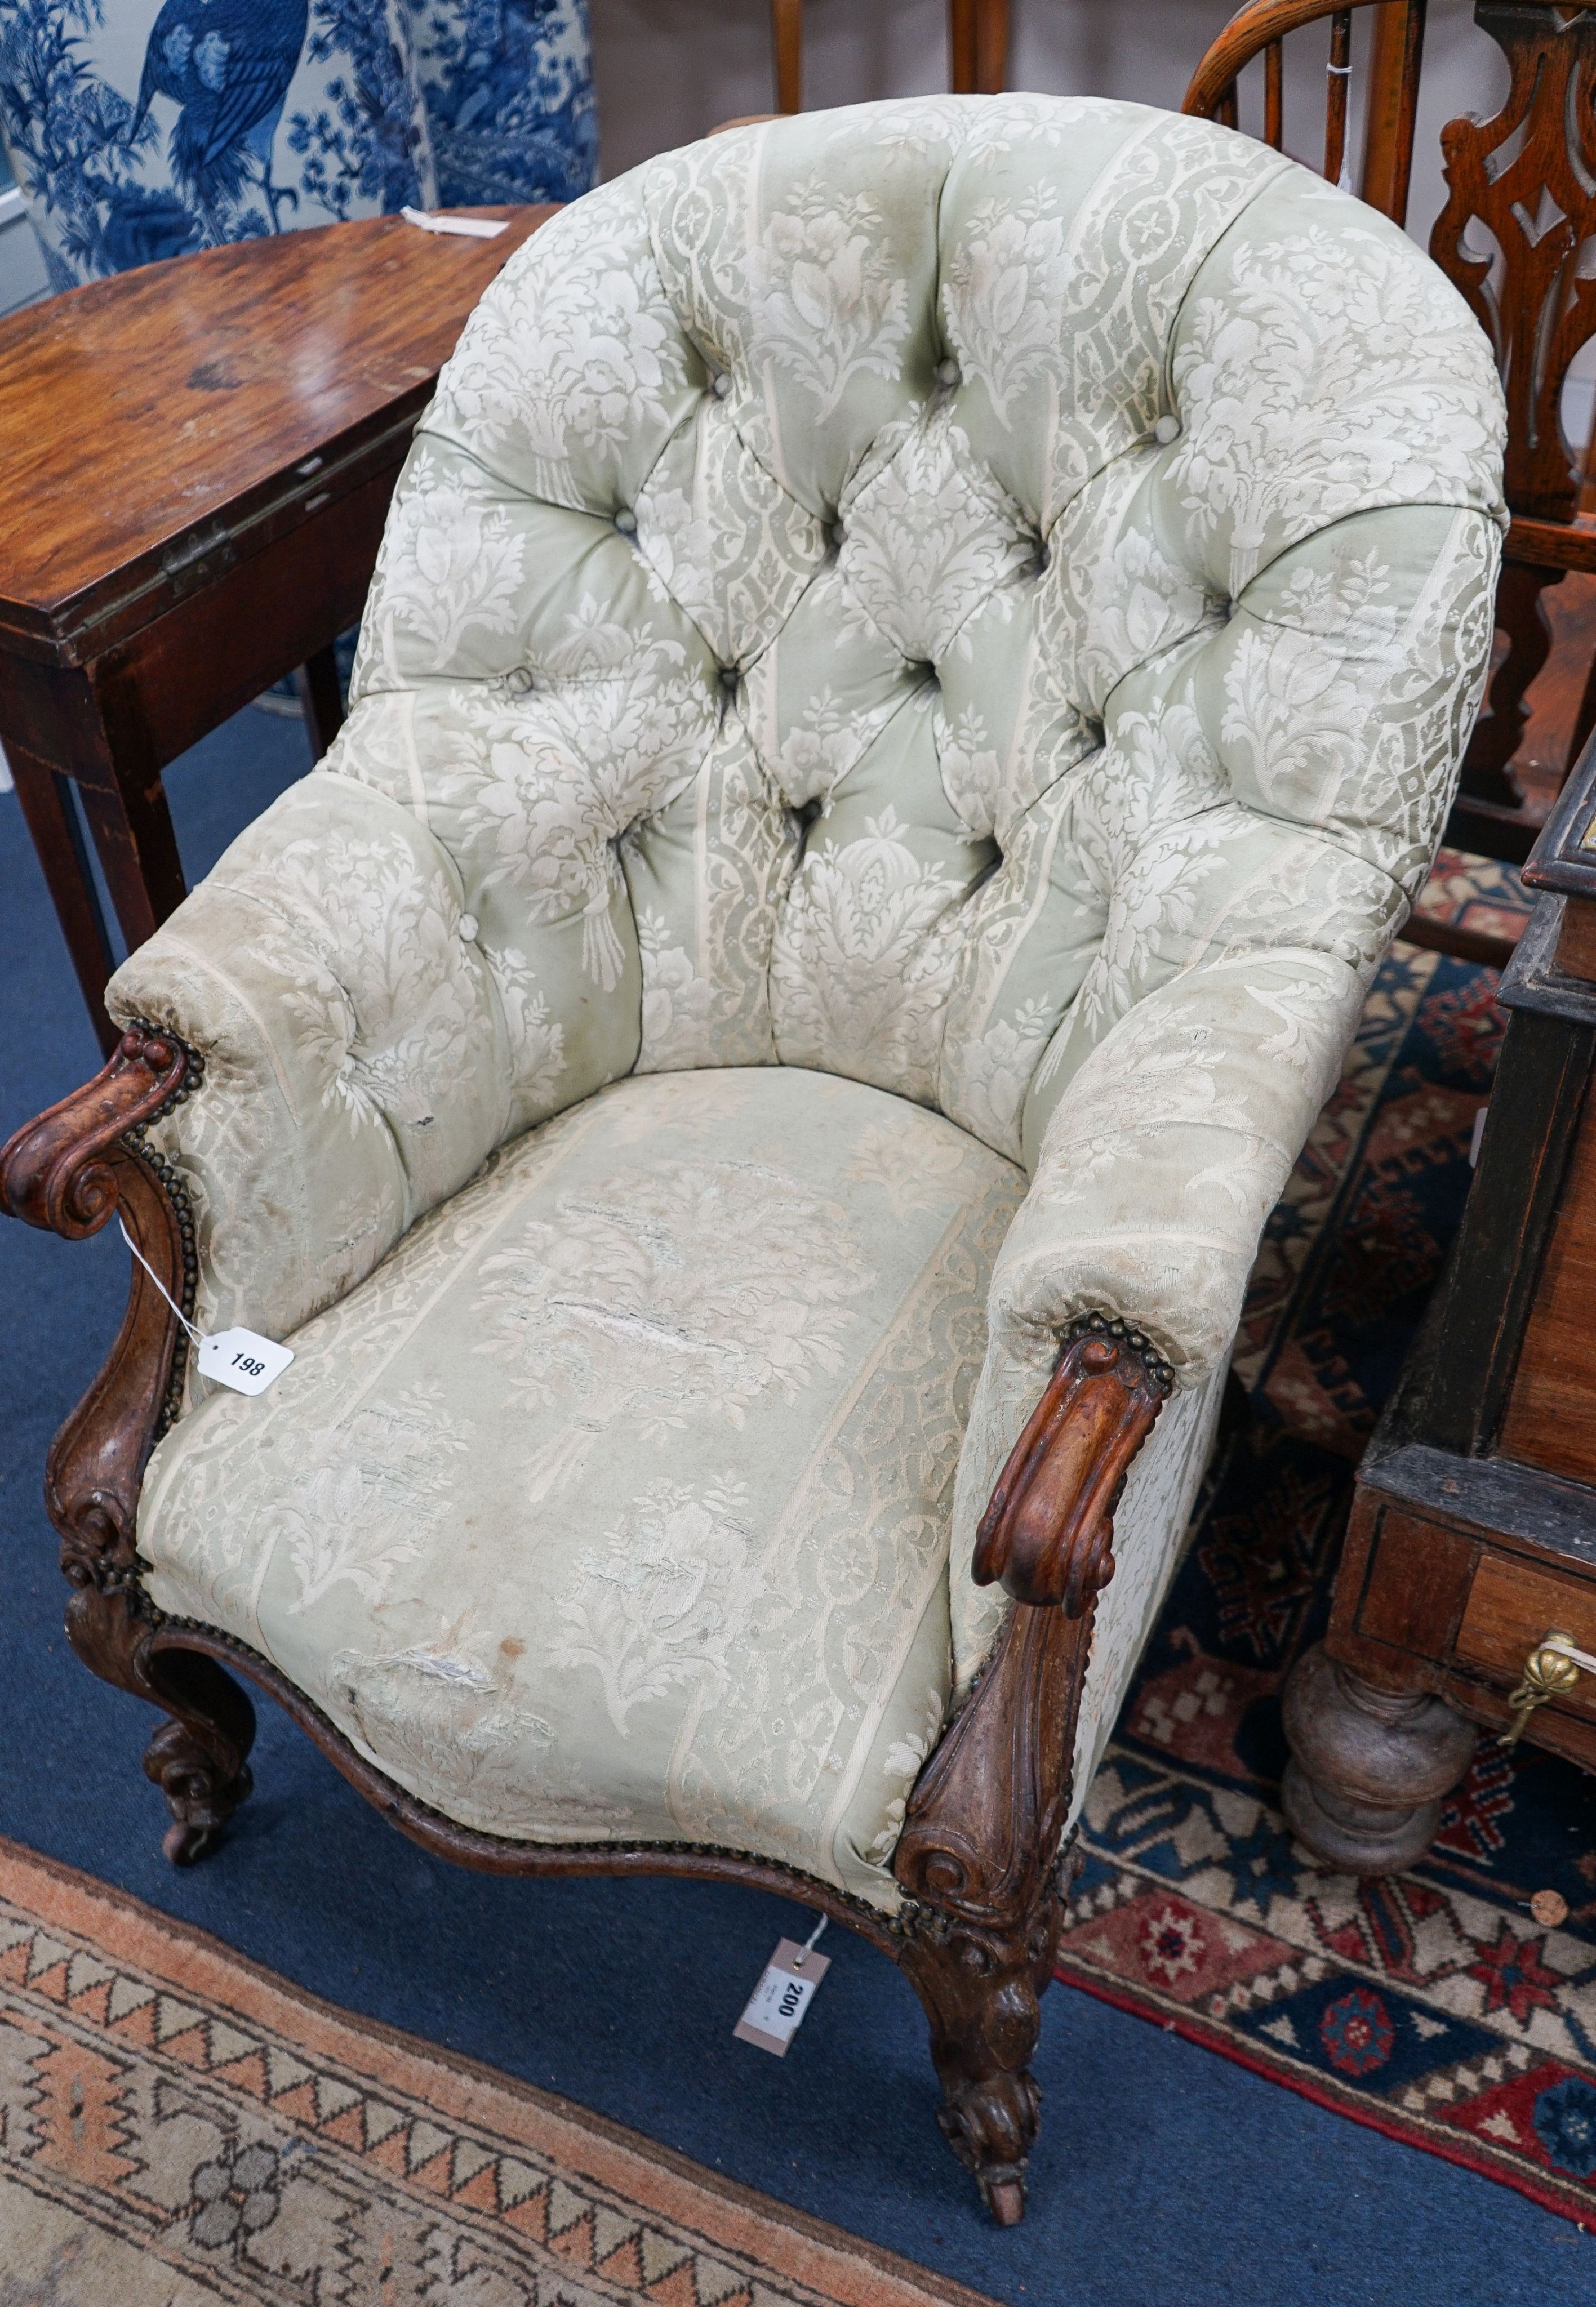
[{"label": "round turned wooden bun foot under the chest at right", "polygon": [[1292,1834],[1342,1873],[1402,1873],[1441,1825],[1476,1730],[1428,1691],[1379,1691],[1317,1643],[1285,1686],[1292,1746],[1280,1799]]}]

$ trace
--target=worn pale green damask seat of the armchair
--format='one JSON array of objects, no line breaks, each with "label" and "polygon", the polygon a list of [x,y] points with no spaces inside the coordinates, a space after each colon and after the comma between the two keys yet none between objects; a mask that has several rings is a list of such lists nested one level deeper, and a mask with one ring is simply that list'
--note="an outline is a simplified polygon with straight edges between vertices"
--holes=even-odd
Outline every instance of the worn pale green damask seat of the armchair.
[{"label": "worn pale green damask seat of the armchair", "polygon": [[307,1322],[268,1393],[166,1435],[150,1594],[461,1825],[717,1843],[893,1906],[1022,1190],[833,1075],[602,1089]]}]

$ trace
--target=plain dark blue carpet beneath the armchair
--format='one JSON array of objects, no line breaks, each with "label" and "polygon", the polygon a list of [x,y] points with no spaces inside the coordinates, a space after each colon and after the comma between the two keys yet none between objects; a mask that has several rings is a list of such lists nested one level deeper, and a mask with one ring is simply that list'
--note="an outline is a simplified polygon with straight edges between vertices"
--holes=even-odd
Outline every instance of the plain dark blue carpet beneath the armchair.
[{"label": "plain dark blue carpet beneath the armchair", "polygon": [[[189,874],[304,766],[300,729],[256,711],[180,761],[168,791]],[[0,895],[5,1133],[99,1064],[14,796],[0,796]],[[1568,2222],[1063,1986],[1036,2062],[1031,2215],[996,2233],[936,2134],[925,2023],[886,1956],[830,1931],[810,2021],[784,2062],[766,2058],[731,2026],[796,1908],[727,1887],[457,1873],[387,1829],[268,1705],[254,1799],[214,1857],[173,1873],[138,1767],[155,1716],[67,1650],[39,1506],[48,1437],[125,1285],[115,1239],[0,1225],[2,1834],[1012,2307],[1589,2295],[1596,2242]]]}]

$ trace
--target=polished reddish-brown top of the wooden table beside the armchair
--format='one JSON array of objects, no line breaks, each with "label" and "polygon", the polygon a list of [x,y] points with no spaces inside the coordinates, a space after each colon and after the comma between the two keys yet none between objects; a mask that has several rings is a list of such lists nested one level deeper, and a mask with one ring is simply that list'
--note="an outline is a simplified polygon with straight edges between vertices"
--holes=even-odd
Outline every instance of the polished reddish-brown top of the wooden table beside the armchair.
[{"label": "polished reddish-brown top of the wooden table beside the armchair", "polygon": [[[78,662],[88,630],[101,646],[108,625],[159,614],[212,524],[238,551],[284,480],[316,498],[341,452],[420,413],[466,314],[551,210],[477,215],[505,231],[466,240],[374,217],[242,240],[0,321],[12,646]],[[295,473],[309,457],[321,464]]]}]

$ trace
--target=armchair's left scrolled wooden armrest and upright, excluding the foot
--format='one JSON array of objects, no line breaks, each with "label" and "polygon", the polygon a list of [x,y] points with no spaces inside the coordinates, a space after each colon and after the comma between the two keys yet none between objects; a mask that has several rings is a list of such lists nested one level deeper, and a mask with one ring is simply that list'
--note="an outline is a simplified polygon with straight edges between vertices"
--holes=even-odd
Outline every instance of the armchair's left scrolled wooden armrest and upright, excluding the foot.
[{"label": "armchair's left scrolled wooden armrest and upright, excluding the foot", "polygon": [[[138,1253],[185,1313],[194,1310],[194,1216],[178,1170],[145,1126],[198,1089],[205,1061],[175,1034],[131,1024],[111,1064],[0,1149],[0,1211],[67,1241],[120,1213]],[[143,1267],[104,1370],[55,1435],[44,1502],[78,1585],[136,1573],[134,1520],[145,1460],[182,1396],[187,1338]]]}]

